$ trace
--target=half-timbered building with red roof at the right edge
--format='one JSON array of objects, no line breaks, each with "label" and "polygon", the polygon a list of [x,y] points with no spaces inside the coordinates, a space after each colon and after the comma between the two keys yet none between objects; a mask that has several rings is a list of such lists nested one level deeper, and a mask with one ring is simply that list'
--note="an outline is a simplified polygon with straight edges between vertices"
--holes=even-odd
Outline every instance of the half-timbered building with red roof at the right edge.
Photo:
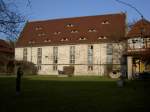
[{"label": "half-timbered building with red roof at the right edge", "polygon": [[150,71],[150,22],[144,18],[137,21],[128,32],[128,76]]}]

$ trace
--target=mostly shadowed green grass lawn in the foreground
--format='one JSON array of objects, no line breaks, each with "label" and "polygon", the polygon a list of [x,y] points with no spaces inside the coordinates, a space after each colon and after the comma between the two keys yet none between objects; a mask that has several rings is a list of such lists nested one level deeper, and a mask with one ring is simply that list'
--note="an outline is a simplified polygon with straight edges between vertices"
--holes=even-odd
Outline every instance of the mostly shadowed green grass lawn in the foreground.
[{"label": "mostly shadowed green grass lawn in the foreground", "polygon": [[101,77],[26,76],[15,95],[15,77],[0,77],[0,112],[150,112],[150,81]]}]

